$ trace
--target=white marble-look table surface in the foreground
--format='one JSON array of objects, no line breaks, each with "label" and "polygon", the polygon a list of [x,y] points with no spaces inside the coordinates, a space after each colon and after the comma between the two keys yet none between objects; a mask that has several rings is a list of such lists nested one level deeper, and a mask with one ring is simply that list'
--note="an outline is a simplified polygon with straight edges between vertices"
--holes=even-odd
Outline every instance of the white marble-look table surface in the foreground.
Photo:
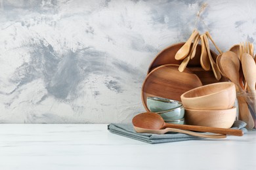
[{"label": "white marble-look table surface in the foreground", "polygon": [[0,169],[255,169],[256,131],[148,144],[106,124],[0,124]]}]

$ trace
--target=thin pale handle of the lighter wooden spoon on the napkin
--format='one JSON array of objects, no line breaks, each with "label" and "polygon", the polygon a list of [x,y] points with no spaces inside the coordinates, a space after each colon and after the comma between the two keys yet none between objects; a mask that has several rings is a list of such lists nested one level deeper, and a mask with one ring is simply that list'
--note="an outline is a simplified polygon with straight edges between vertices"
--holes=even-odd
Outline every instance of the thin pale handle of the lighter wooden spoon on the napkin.
[{"label": "thin pale handle of the lighter wooden spoon on the napkin", "polygon": [[170,127],[167,127],[164,130],[165,130],[165,133],[167,131],[172,131],[172,132],[178,132],[178,133],[184,133],[184,134],[187,134],[187,135],[192,135],[194,137],[203,137],[203,138],[211,138],[211,139],[226,138],[226,135],[223,135],[223,134],[204,135],[204,134],[196,133],[194,131],[175,129],[175,128],[170,128]]}]

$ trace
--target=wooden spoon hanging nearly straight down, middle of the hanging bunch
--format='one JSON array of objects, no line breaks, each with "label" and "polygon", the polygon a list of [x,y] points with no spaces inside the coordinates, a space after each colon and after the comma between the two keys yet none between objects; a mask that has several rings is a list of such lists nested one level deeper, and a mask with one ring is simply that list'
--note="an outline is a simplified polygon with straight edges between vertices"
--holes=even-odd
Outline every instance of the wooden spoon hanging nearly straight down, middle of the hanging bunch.
[{"label": "wooden spoon hanging nearly straight down, middle of the hanging bunch", "polygon": [[201,45],[202,45],[200,64],[205,71],[209,71],[211,69],[211,63],[209,61],[209,57],[207,56],[207,50],[205,48],[205,42],[203,40],[203,35],[200,35],[200,39],[201,39]]}]

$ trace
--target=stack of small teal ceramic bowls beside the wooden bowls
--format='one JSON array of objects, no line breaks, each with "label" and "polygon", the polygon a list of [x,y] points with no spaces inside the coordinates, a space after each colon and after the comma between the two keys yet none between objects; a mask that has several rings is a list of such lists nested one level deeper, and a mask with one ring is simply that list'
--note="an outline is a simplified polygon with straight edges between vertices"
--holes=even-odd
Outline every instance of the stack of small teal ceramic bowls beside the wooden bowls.
[{"label": "stack of small teal ceramic bowls beside the wooden bowls", "polygon": [[160,114],[166,123],[184,124],[184,107],[180,101],[163,97],[147,97],[150,112]]}]

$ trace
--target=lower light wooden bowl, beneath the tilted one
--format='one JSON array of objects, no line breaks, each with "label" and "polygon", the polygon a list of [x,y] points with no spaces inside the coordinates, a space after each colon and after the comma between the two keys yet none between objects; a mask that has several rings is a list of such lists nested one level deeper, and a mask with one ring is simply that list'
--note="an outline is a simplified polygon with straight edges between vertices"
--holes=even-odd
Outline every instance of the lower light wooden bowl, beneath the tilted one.
[{"label": "lower light wooden bowl, beneath the tilted one", "polygon": [[185,109],[188,125],[230,128],[236,120],[236,107],[224,110]]}]

